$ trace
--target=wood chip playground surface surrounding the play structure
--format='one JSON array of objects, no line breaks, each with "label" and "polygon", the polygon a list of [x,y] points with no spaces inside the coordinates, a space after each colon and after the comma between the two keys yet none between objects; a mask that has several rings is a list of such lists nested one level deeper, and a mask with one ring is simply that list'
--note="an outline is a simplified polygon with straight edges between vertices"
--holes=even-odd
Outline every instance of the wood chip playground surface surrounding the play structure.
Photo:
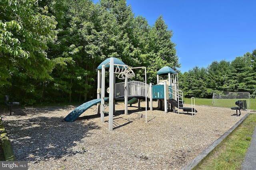
[{"label": "wood chip playground surface surrounding the play structure", "polygon": [[96,106],[74,122],[63,119],[75,106],[14,107],[11,116],[0,114],[17,160],[28,161],[30,170],[180,170],[250,112],[237,117],[230,108],[196,105],[192,116],[164,113],[153,102],[146,123],[145,102],[137,106],[124,115],[124,104],[116,104],[111,132]]}]

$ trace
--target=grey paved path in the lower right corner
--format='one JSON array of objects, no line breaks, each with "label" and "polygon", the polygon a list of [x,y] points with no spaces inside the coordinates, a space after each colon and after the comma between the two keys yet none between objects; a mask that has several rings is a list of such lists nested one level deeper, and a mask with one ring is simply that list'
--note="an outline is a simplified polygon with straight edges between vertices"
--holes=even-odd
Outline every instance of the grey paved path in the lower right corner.
[{"label": "grey paved path in the lower right corner", "polygon": [[256,170],[256,127],[254,128],[250,147],[242,163],[242,170]]}]

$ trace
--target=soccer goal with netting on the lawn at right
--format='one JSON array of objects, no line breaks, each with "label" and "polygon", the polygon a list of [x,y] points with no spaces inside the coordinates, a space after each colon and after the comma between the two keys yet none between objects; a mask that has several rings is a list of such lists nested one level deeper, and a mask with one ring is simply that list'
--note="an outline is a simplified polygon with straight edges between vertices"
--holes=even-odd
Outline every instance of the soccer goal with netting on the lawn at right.
[{"label": "soccer goal with netting on the lawn at right", "polygon": [[235,102],[241,100],[245,108],[250,108],[249,92],[221,92],[212,94],[212,106],[234,107]]}]

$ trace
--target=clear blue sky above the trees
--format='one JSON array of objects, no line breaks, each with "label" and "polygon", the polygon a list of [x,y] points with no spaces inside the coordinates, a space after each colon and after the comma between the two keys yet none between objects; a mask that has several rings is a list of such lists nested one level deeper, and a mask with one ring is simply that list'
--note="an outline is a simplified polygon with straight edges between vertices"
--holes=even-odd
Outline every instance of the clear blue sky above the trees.
[{"label": "clear blue sky above the trees", "polygon": [[[95,0],[94,2],[97,2]],[[162,14],[181,72],[232,61],[256,49],[256,0],[126,0],[153,26]]]}]

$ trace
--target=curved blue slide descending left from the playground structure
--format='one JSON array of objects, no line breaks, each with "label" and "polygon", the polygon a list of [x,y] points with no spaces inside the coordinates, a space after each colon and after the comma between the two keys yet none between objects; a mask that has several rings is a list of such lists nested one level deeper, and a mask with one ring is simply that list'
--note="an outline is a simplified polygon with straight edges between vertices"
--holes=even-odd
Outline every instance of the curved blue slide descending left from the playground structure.
[{"label": "curved blue slide descending left from the playground structure", "polygon": [[75,121],[84,111],[89,109],[90,107],[98,104],[101,102],[101,99],[94,99],[90,100],[89,102],[86,102],[74,109],[72,112],[70,112],[65,118],[64,121]]}]

